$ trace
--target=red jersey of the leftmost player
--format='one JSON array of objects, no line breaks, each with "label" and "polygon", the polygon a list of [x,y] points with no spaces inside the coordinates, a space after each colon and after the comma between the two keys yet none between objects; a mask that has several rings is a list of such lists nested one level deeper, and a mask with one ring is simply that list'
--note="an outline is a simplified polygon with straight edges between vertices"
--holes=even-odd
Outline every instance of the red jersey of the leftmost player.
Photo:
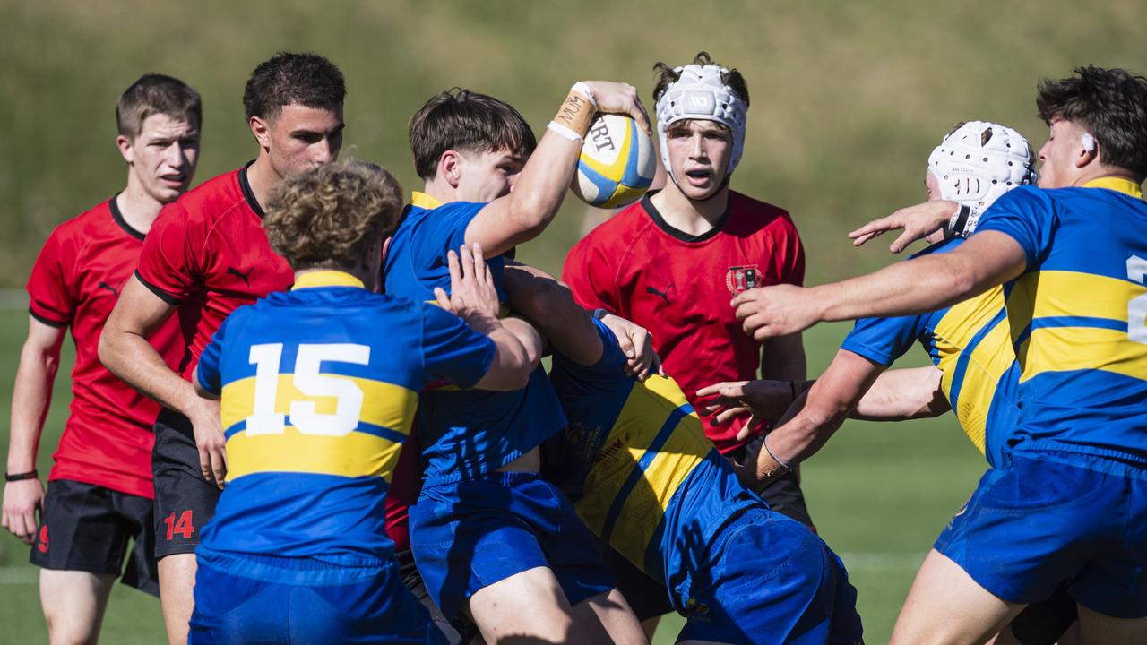
[{"label": "red jersey of the leftmost player", "polygon": [[[28,279],[29,311],[54,327],[71,327],[76,342],[71,413],[53,456],[48,480],[72,480],[153,497],[151,423],[159,405],[100,363],[100,331],[132,275],[143,233],[120,216],[115,199],[61,224]],[[182,352],[169,320],[151,335],[164,358]]]}]

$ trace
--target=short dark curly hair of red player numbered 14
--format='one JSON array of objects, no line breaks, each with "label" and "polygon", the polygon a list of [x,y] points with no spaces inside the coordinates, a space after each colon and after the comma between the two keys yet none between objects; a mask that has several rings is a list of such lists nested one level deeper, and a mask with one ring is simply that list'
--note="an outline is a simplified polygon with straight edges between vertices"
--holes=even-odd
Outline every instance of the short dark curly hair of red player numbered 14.
[{"label": "short dark curly hair of red player numbered 14", "polygon": [[291,103],[338,111],[345,98],[343,72],[334,63],[318,54],[280,52],[251,72],[243,108],[247,118],[274,118]]}]

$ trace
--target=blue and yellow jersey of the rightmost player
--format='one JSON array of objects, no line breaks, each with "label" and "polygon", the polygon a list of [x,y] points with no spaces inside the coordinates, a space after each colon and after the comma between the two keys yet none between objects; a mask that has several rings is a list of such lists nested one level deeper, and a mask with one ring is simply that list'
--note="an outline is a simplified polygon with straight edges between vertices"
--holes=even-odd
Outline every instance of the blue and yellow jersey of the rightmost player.
[{"label": "blue and yellow jersey of the rightmost player", "polygon": [[1137,184],[1027,186],[977,233],[1014,239],[1027,271],[1005,287],[1020,364],[1017,449],[1147,457],[1147,203]]}]

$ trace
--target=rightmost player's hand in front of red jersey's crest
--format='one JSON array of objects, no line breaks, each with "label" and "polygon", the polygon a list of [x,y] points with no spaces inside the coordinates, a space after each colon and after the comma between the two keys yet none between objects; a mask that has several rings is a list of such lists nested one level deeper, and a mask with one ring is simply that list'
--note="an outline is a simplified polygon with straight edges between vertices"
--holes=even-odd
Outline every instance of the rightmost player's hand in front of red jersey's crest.
[{"label": "rightmost player's hand in front of red jersey's crest", "polygon": [[803,332],[821,320],[819,303],[810,289],[793,285],[758,287],[733,298],[736,319],[757,341]]}]

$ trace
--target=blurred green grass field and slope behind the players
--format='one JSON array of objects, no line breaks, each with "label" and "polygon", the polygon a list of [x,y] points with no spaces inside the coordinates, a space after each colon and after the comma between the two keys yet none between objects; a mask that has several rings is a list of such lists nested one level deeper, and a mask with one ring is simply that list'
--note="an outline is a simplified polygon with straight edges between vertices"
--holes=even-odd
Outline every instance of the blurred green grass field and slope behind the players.
[{"label": "blurred green grass field and slope behind the players", "polygon": [[[883,244],[853,250],[844,233],[923,197],[924,161],[953,122],[1002,122],[1038,147],[1046,129],[1035,116],[1036,83],[1086,63],[1147,71],[1142,18],[1134,0],[0,0],[0,287],[21,287],[56,224],[123,186],[112,118],[123,88],[162,71],[200,90],[202,181],[255,155],[242,86],[279,49],[320,52],[342,67],[344,154],[391,168],[407,188],[418,186],[405,124],[435,92],[458,85],[501,96],[540,132],[574,80],[630,81],[651,108],[653,63],[708,49],[741,69],[752,100],[734,187],[793,212],[810,282],[838,279],[889,262]],[[560,270],[585,212],[568,201],[520,257]],[[812,374],[845,331],[807,334]],[[23,313],[0,313],[0,390],[10,391],[24,333]],[[41,444],[44,473],[69,366]],[[7,419],[5,407],[5,444]],[[850,567],[869,643],[888,639],[913,572],[981,469],[951,417],[850,422],[806,465],[813,516]],[[26,558],[0,536],[0,642],[46,640]],[[669,631],[660,643],[672,640]],[[158,604],[117,588],[103,634],[106,643],[161,642]]]}]

